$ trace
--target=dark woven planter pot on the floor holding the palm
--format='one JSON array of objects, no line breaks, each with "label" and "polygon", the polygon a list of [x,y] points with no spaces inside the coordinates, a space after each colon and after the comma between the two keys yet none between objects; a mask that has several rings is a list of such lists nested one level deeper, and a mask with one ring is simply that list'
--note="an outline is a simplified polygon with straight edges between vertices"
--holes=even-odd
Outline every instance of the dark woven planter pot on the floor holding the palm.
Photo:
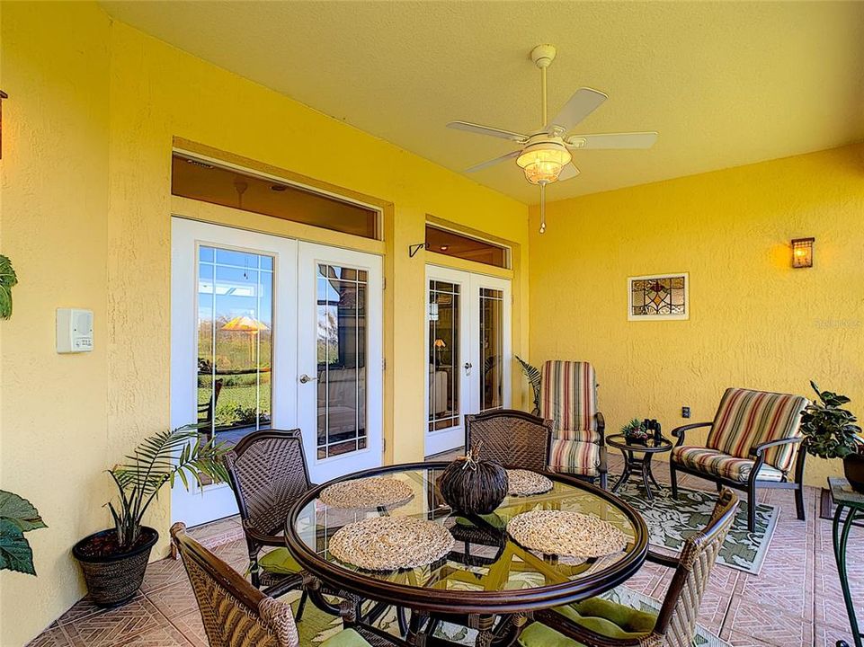
[{"label": "dark woven planter pot on the floor holding the palm", "polygon": [[150,551],[159,539],[159,533],[151,527],[141,527],[142,543],[125,553],[91,556],[83,548],[95,539],[116,532],[100,530],[90,536],[85,536],[72,546],[72,554],[87,582],[87,591],[94,604],[99,607],[119,607],[129,602],[144,581],[144,572],[150,559]]}]

